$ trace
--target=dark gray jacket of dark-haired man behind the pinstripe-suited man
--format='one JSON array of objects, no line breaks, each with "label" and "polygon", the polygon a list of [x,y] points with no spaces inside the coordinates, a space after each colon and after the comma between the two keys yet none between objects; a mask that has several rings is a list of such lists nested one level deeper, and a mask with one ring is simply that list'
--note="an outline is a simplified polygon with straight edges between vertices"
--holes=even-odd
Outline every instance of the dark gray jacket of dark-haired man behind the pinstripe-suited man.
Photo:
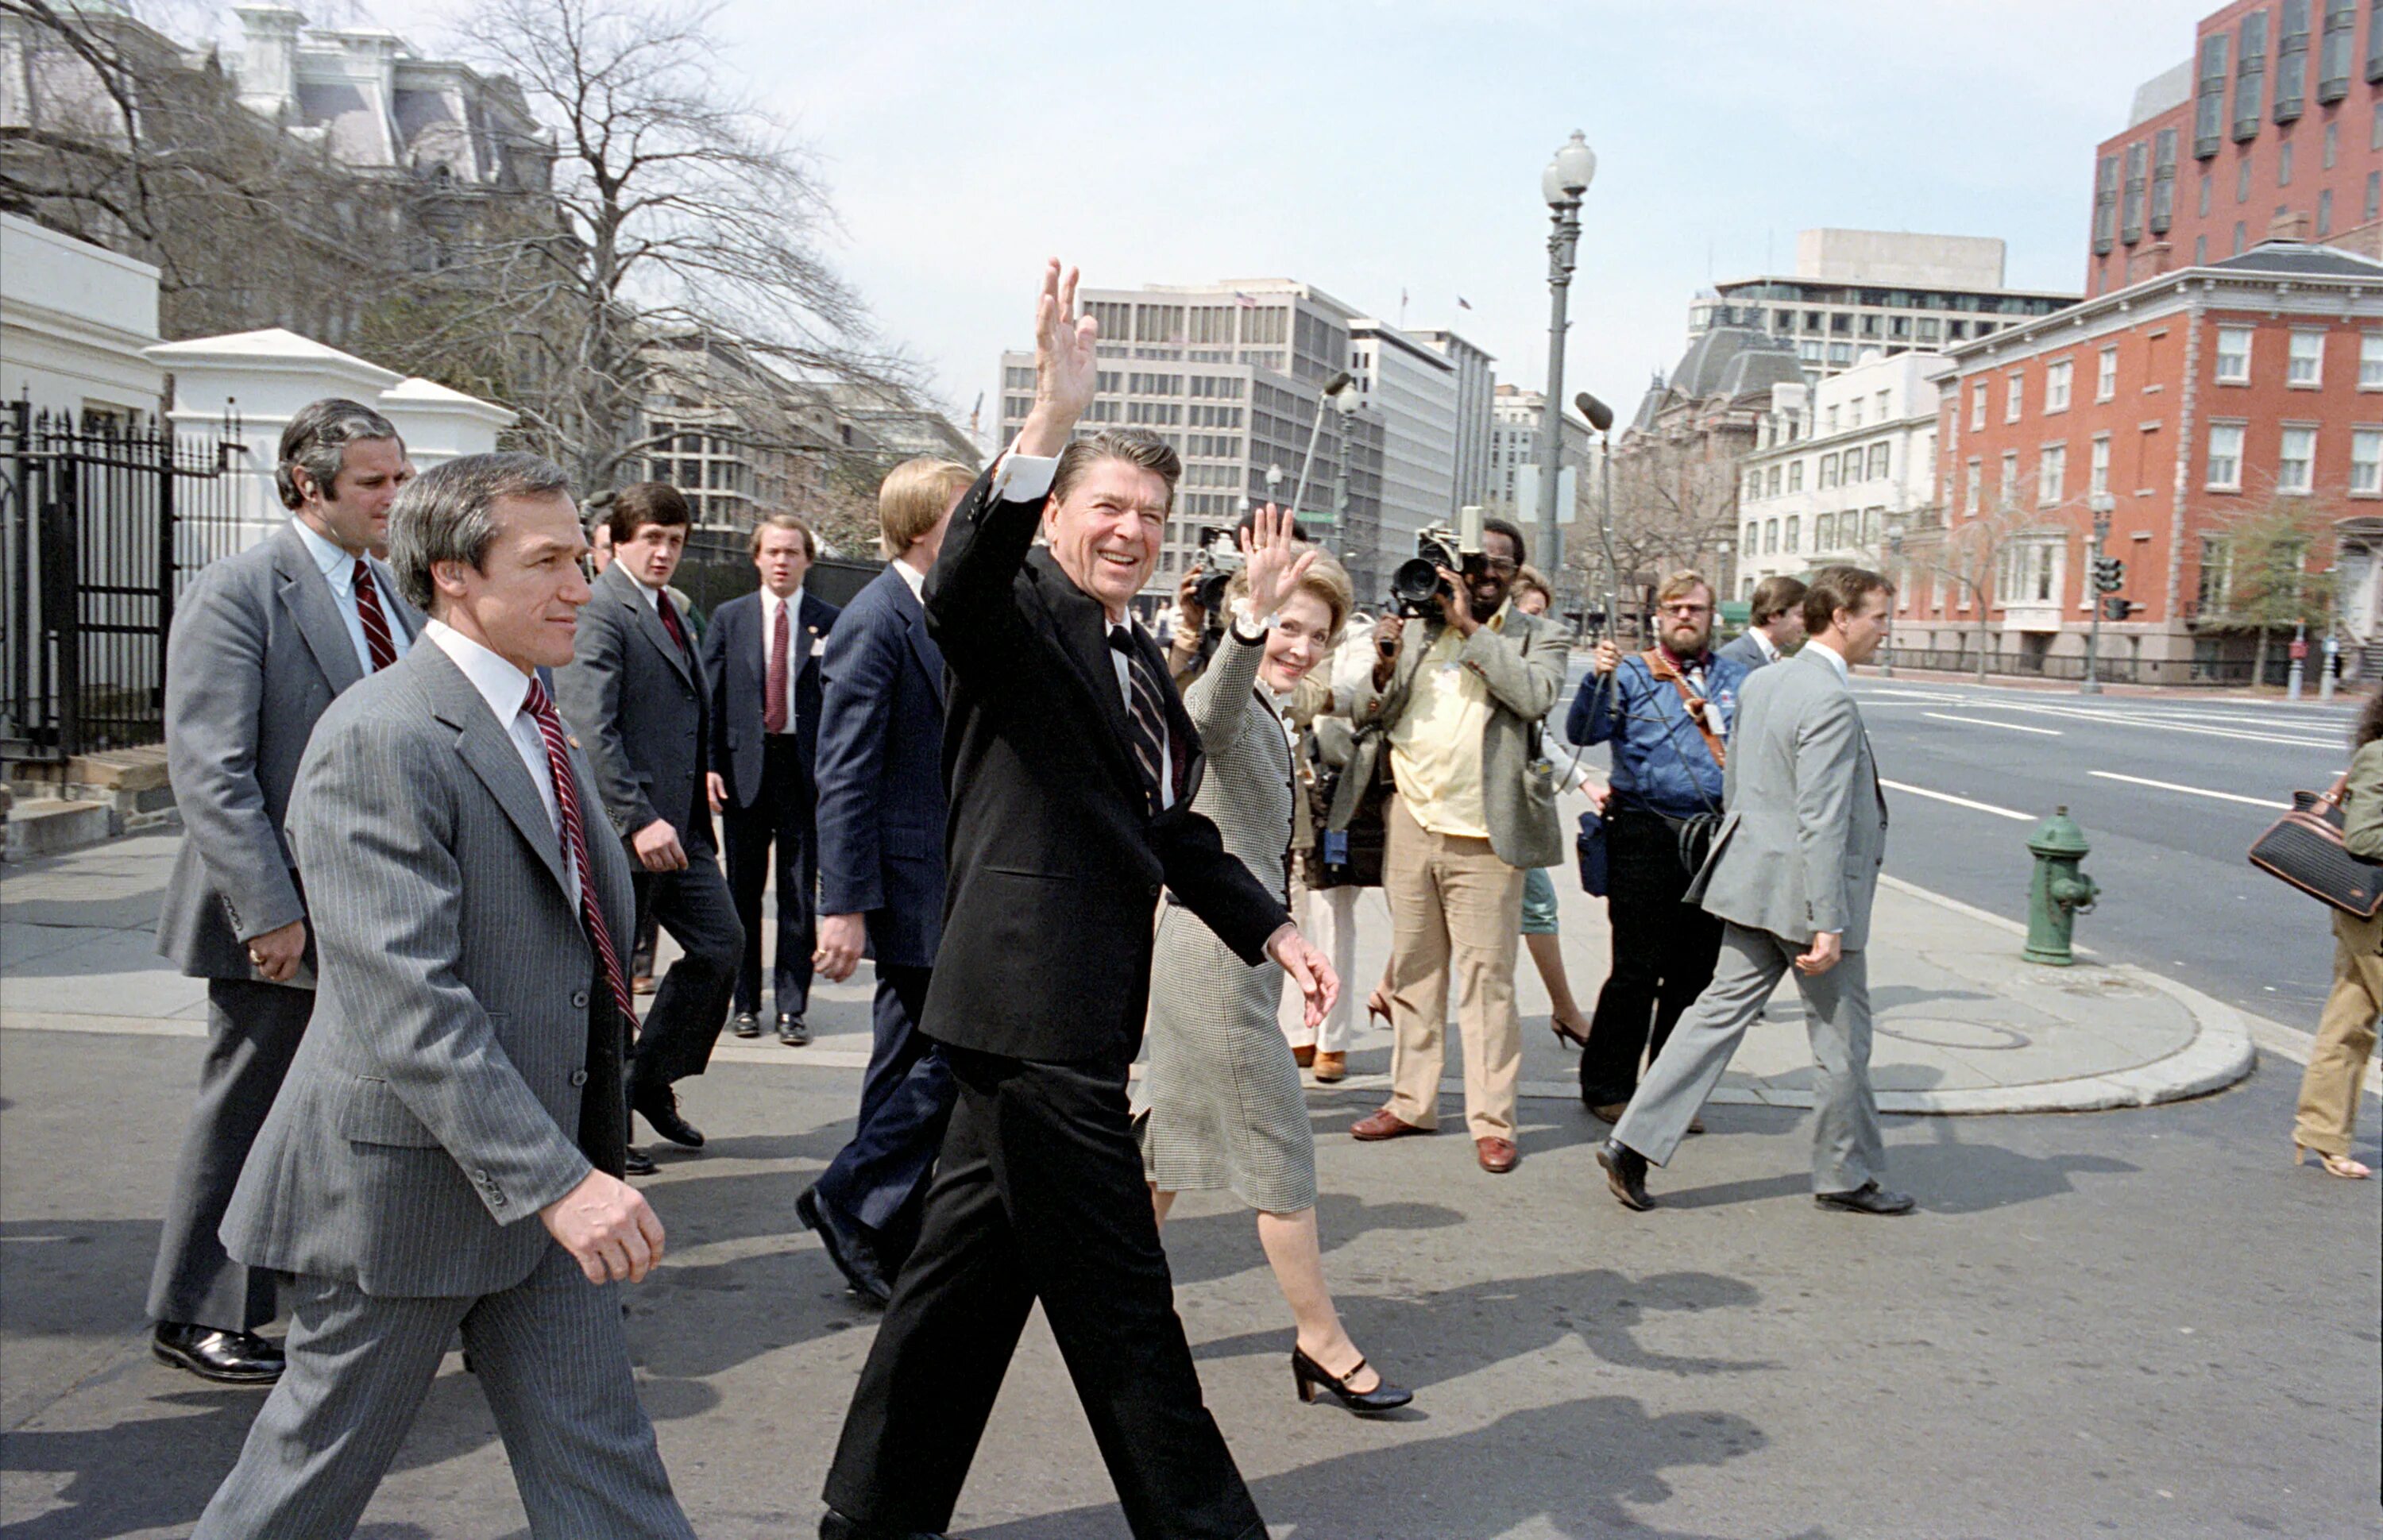
[{"label": "dark gray jacket of dark-haired man behind the pinstripe-suited man", "polygon": [[[703,796],[703,667],[682,653],[653,603],[620,563],[593,584],[579,610],[570,667],[555,670],[555,706],[596,765],[603,811],[622,839],[655,818],[679,830],[689,851],[713,853],[710,803]],[[693,627],[689,625],[689,641]]]}]

